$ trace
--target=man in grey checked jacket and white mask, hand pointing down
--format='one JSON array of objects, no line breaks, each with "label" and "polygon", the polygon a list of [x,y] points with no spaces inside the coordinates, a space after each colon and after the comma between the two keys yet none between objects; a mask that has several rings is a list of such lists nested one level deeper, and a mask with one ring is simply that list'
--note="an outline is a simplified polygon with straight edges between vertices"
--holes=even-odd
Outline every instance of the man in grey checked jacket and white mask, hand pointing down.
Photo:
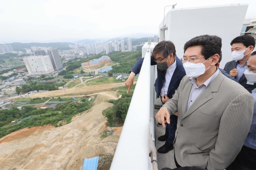
[{"label": "man in grey checked jacket and white mask, hand pointing down", "polygon": [[250,129],[254,99],[216,67],[221,46],[221,38],[214,35],[186,42],[182,58],[186,76],[156,114],[164,127],[165,122],[170,123],[170,115],[178,112],[177,167],[224,170],[236,158]]}]

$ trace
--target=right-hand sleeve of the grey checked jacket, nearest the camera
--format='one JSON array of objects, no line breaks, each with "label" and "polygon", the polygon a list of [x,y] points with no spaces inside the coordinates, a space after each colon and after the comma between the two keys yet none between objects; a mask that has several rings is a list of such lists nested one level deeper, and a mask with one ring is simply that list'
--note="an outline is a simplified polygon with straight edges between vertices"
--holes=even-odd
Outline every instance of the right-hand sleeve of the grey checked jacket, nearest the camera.
[{"label": "right-hand sleeve of the grey checked jacket, nearest the camera", "polygon": [[215,148],[210,151],[208,170],[223,170],[234,161],[250,130],[253,106],[253,96],[244,92],[234,98],[225,109]]}]

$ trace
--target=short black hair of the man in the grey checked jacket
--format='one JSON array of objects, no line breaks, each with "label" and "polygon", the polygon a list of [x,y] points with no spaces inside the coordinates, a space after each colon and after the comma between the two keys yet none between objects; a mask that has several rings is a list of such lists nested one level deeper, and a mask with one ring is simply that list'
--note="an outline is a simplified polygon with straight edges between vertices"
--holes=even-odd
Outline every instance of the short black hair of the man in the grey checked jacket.
[{"label": "short black hair of the man in the grey checked jacket", "polygon": [[206,60],[214,54],[221,55],[221,38],[216,35],[200,35],[190,39],[184,45],[184,53],[188,47],[192,46],[201,46],[201,53]]}]

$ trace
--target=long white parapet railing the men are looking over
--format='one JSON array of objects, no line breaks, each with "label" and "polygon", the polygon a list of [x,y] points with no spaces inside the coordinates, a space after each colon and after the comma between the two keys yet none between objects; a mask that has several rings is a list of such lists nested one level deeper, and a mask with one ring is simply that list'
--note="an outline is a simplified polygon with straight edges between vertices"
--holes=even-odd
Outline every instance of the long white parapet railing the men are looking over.
[{"label": "long white parapet railing the men are looking over", "polygon": [[[154,145],[154,68],[150,66],[151,50],[145,53],[130,107],[110,170],[157,169]],[[152,142],[153,141],[153,142]],[[150,152],[151,159],[149,157]]]}]

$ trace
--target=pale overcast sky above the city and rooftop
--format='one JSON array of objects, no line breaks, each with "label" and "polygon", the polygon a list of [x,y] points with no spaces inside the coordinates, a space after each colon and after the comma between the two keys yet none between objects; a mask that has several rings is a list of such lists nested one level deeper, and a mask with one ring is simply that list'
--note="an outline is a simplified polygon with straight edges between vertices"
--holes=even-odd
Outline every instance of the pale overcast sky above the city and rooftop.
[{"label": "pale overcast sky above the city and rooftop", "polygon": [[0,43],[157,35],[164,6],[176,2],[175,8],[248,3],[246,17],[256,17],[256,0],[0,0]]}]

